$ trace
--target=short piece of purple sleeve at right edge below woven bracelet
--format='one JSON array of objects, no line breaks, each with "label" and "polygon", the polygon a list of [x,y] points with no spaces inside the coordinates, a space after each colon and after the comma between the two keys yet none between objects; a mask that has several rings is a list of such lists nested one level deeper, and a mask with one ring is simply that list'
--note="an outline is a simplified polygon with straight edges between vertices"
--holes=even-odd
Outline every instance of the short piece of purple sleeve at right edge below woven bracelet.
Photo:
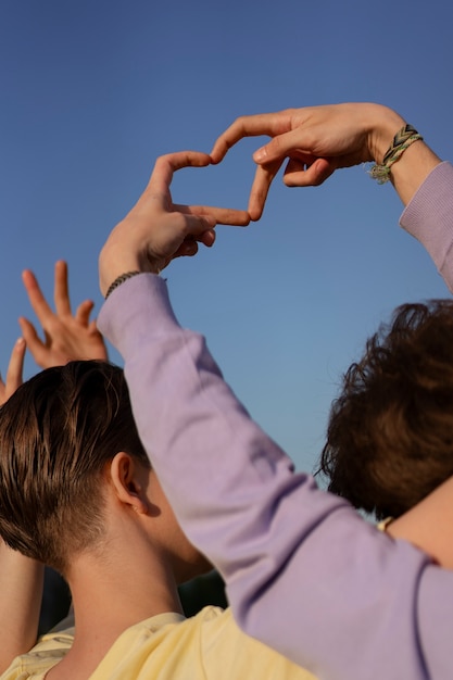
[{"label": "short piece of purple sleeve at right edge below woven bracelet", "polygon": [[431,255],[453,292],[453,166],[446,161],[431,171],[406,205],[400,224]]}]

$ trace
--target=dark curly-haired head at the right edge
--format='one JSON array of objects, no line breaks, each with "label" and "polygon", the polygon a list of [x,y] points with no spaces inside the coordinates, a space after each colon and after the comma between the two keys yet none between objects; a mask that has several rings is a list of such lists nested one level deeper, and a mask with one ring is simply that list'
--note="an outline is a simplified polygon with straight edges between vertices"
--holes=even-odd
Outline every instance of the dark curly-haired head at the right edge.
[{"label": "dark curly-haired head at the right edge", "polygon": [[398,517],[453,475],[453,301],[395,310],[343,376],[319,470],[329,491]]}]

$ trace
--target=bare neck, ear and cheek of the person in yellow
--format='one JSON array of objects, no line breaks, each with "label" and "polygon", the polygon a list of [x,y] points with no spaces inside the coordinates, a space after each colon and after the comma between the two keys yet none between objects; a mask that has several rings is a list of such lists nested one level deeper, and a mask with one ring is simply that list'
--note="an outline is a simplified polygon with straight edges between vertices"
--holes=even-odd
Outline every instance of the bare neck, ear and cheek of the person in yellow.
[{"label": "bare neck, ear and cheek of the person in yellow", "polygon": [[74,644],[47,680],[88,678],[126,628],[158,614],[183,613],[178,583],[211,568],[180,530],[155,474],[127,453],[105,466],[101,498],[104,540],[72,555],[66,574]]}]

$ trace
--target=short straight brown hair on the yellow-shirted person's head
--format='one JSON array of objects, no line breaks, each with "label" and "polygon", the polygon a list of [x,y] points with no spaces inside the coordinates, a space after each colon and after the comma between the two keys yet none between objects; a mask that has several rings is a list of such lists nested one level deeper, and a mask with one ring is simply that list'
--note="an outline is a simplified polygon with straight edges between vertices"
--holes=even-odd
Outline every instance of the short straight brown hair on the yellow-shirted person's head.
[{"label": "short straight brown hair on the yellow-shirted person's head", "polygon": [[123,370],[104,362],[48,368],[0,408],[0,534],[65,572],[103,534],[105,464],[149,466]]}]

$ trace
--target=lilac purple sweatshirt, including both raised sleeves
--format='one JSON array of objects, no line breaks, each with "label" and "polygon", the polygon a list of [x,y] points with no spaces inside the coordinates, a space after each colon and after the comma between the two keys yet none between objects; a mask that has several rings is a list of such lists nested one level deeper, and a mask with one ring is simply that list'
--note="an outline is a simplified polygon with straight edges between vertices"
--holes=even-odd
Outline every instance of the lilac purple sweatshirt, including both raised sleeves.
[{"label": "lilac purple sweatshirt, including both raised sleeves", "polygon": [[[453,166],[401,224],[453,290]],[[364,521],[251,419],[202,336],[152,274],[119,286],[99,328],[118,349],[138,429],[189,539],[218,568],[239,626],[323,680],[451,680],[453,572]]]}]

